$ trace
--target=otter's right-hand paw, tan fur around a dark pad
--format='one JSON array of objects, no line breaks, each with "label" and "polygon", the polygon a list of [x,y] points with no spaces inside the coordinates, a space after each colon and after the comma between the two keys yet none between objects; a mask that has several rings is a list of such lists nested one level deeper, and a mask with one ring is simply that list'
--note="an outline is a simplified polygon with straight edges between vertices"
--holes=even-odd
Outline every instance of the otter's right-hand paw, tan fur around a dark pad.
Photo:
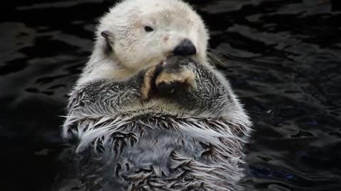
[{"label": "otter's right-hand paw, tan fur around a dark pad", "polygon": [[185,67],[180,71],[167,71],[164,69],[156,77],[156,88],[161,95],[172,94],[178,90],[190,91],[194,86],[193,71]]}]

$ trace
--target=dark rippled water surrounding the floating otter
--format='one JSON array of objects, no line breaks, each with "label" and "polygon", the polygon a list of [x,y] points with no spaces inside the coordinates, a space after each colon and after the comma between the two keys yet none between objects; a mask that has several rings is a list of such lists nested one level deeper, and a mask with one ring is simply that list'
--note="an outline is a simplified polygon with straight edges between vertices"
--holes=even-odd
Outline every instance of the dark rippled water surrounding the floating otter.
[{"label": "dark rippled water surrounding the floating otter", "polygon": [[[193,0],[254,121],[254,190],[341,190],[341,1]],[[65,96],[112,1],[6,1],[0,190],[51,190]]]}]

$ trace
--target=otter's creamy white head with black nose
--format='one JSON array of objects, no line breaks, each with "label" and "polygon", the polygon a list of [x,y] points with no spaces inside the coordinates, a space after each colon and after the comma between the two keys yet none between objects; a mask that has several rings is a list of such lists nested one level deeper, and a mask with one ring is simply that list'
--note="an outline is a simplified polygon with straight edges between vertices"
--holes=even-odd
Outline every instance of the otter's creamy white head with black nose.
[{"label": "otter's creamy white head with black nose", "polygon": [[205,62],[207,30],[180,0],[126,0],[110,9],[97,28],[97,49],[123,69],[137,71],[171,55]]}]

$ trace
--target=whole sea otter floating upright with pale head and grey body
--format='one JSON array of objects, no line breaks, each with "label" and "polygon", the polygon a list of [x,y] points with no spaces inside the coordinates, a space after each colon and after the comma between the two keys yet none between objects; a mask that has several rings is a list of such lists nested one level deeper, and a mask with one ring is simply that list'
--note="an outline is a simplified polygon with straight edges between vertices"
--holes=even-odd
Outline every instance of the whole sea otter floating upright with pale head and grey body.
[{"label": "whole sea otter floating upright with pale head and grey body", "polygon": [[63,137],[86,190],[239,190],[251,122],[180,0],[121,1],[100,20]]}]

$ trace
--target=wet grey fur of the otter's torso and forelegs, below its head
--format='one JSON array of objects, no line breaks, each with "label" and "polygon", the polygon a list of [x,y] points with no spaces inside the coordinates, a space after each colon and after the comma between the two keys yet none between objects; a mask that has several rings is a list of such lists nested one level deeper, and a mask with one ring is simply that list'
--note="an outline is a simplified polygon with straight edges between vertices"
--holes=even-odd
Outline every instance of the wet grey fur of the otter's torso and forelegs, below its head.
[{"label": "wet grey fur of the otter's torso and forelegs, below its head", "polygon": [[146,70],[72,91],[63,136],[75,146],[87,190],[242,190],[249,117],[212,66],[179,57],[168,62],[168,70],[193,71],[191,91],[156,93],[144,102]]}]

